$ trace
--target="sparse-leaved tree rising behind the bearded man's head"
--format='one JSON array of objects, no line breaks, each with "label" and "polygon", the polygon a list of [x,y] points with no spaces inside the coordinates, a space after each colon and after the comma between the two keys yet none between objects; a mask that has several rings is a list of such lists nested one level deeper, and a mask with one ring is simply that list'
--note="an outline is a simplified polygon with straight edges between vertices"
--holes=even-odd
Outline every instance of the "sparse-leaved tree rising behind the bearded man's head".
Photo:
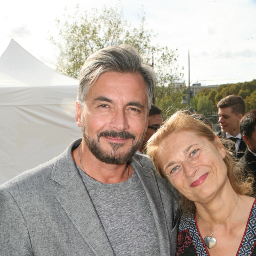
[{"label": "sparse-leaved tree rising behind the bearded man's head", "polygon": [[[173,92],[174,96],[171,98],[177,101],[177,93],[169,89],[175,81],[183,77],[181,73],[183,68],[179,68],[177,64],[177,49],[153,45],[152,39],[156,38],[156,35],[154,31],[146,29],[145,20],[143,12],[139,26],[132,27],[124,19],[120,4],[114,7],[104,6],[101,12],[93,8],[90,12],[82,13],[77,5],[74,15],[64,15],[64,22],[56,19],[60,31],[59,37],[50,38],[60,52],[56,69],[64,75],[78,78],[83,63],[91,53],[109,45],[132,45],[139,51],[146,63],[152,64],[154,56],[157,88],[161,87],[165,91]],[[167,94],[159,92],[160,88],[156,91],[158,95],[155,97],[155,103],[157,102],[157,105],[160,106],[162,100],[168,102]],[[181,100],[182,95],[179,101]],[[162,103],[162,105],[167,105],[167,103]],[[163,111],[165,110],[166,107],[163,108]]]}]

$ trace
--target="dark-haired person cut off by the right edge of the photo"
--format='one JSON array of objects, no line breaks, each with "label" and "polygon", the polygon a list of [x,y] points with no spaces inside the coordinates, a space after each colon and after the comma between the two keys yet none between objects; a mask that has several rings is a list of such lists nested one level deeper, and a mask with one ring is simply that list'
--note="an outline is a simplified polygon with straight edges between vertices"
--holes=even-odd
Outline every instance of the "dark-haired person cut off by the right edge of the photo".
[{"label": "dark-haired person cut off by the right edge of the photo", "polygon": [[245,114],[240,122],[240,131],[247,144],[241,162],[246,163],[248,171],[251,171],[256,177],[256,110]]}]

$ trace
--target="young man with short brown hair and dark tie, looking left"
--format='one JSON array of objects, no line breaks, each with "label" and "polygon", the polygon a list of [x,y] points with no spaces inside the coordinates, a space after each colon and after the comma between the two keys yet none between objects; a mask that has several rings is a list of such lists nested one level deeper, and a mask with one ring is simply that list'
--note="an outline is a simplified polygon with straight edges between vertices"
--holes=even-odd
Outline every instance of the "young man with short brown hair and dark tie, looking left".
[{"label": "young man with short brown hair and dark tie, looking left", "polygon": [[[246,144],[242,139],[239,122],[245,114],[245,102],[237,95],[229,95],[217,104],[218,122],[221,126],[219,137],[233,140],[235,147],[232,148],[237,159],[241,158],[246,149]],[[229,143],[229,147],[231,147]]]}]

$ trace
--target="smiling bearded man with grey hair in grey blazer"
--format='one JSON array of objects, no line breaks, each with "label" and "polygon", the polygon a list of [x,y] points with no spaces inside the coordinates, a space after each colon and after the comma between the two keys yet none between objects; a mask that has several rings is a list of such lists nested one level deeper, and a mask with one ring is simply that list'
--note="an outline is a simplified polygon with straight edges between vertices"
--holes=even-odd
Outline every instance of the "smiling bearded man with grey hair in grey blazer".
[{"label": "smiling bearded man with grey hair in grey blazer", "polygon": [[136,154],[155,89],[127,45],[88,57],[75,120],[82,138],[0,186],[1,255],[174,255],[178,200]]}]

